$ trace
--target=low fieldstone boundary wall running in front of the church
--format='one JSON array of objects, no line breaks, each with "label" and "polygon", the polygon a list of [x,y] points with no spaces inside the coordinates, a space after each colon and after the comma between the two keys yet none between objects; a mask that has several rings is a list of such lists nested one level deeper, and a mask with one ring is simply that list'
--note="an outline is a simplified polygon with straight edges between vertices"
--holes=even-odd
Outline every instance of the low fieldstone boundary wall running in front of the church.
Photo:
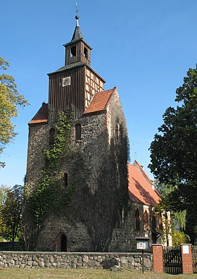
[{"label": "low fieldstone boundary wall running in front of the church", "polygon": [[[141,253],[0,252],[3,268],[119,268],[141,269]],[[144,270],[153,270],[153,255],[144,254]]]}]

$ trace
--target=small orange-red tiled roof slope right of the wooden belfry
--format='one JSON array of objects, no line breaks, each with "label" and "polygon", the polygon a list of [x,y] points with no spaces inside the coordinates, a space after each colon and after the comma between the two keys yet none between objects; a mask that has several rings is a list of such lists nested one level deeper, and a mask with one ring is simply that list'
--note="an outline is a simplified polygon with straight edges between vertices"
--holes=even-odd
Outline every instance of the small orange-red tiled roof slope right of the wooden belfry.
[{"label": "small orange-red tiled roof slope right of the wooden belfry", "polygon": [[115,89],[116,87],[103,92],[97,92],[84,113],[94,113],[96,111],[103,111],[106,109],[106,105],[108,104],[108,101]]}]

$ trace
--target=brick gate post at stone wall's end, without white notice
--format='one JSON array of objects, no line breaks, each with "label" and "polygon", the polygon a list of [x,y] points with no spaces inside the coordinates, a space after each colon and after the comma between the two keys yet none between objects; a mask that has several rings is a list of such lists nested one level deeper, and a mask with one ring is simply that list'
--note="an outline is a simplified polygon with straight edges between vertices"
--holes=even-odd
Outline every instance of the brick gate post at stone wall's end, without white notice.
[{"label": "brick gate post at stone wall's end, without white notice", "polygon": [[163,273],[163,246],[152,244],[153,247],[153,271]]}]

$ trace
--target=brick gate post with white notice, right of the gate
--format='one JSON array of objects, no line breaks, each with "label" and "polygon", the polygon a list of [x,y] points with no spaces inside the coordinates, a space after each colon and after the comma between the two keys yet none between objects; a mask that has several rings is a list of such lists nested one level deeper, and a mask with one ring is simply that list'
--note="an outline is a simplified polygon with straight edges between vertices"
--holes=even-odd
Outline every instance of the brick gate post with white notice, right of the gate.
[{"label": "brick gate post with white notice, right of the gate", "polygon": [[193,273],[191,244],[181,244],[183,273]]}]

